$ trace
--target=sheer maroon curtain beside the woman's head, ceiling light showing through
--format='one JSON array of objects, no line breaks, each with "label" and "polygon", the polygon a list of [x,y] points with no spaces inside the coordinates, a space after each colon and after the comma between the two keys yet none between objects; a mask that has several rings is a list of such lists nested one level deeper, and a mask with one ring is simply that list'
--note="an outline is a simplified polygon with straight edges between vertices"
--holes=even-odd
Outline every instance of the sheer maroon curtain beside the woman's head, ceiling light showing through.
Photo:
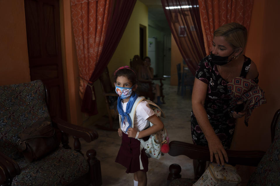
[{"label": "sheer maroon curtain beside the woman's head, ceiling light showing through", "polygon": [[188,68],[195,75],[206,56],[197,0],[161,0],[174,40]]}]

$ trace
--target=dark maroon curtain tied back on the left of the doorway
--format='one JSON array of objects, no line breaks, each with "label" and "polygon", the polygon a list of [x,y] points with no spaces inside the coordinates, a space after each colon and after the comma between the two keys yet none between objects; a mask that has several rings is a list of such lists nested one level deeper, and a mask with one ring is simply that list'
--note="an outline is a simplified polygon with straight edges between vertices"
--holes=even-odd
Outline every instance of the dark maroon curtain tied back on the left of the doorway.
[{"label": "dark maroon curtain tied back on the left of the doorway", "polygon": [[82,112],[86,112],[89,115],[96,115],[98,113],[93,82],[99,78],[111,60],[122,34],[125,31],[135,3],[136,0],[115,0],[111,3],[111,8],[109,10],[110,22],[106,31],[102,51],[94,71],[90,74],[89,83],[85,89],[81,109]]}]

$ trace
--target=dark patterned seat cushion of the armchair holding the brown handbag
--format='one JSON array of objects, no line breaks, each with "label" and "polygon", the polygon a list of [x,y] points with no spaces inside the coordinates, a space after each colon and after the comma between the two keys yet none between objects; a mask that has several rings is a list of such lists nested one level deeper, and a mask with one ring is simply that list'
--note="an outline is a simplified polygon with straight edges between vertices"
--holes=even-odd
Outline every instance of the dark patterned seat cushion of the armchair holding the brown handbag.
[{"label": "dark patterned seat cushion of the armchair holding the brown handbag", "polygon": [[89,170],[83,155],[63,148],[35,162],[27,163],[21,158],[17,163],[21,173],[13,179],[12,186],[67,185]]}]

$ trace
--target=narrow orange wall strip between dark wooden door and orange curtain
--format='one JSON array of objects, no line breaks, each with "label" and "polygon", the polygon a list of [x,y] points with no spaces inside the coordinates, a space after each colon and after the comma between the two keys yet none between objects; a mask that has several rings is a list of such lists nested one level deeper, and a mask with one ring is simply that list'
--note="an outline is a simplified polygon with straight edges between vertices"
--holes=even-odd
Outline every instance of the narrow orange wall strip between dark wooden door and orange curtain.
[{"label": "narrow orange wall strip between dark wooden door and orange curtain", "polygon": [[67,119],[73,124],[81,125],[82,113],[79,109],[81,108],[81,101],[78,92],[78,62],[69,0],[60,1],[60,24]]}]

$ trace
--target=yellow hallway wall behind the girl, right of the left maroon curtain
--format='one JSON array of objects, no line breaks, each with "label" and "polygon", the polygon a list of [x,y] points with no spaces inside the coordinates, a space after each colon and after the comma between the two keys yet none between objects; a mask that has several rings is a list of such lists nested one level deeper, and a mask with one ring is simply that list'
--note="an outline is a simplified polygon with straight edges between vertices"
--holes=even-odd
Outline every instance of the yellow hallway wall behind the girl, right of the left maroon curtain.
[{"label": "yellow hallway wall behind the girl, right of the left maroon curtain", "polygon": [[[118,47],[116,48],[115,53],[113,54],[108,64],[108,71],[111,76],[112,84],[114,71],[121,66],[129,65],[129,60],[132,59],[134,55],[139,55],[140,24],[146,26],[146,31],[148,32],[148,8],[146,5],[144,5],[138,0],[136,1],[131,17],[129,19],[129,22],[127,23],[125,31],[118,44]],[[104,104],[105,99],[101,92],[101,85],[99,80],[95,82],[94,86],[96,91],[95,93],[97,97],[97,108],[99,114],[91,116],[90,118],[83,117],[84,125],[86,126],[92,124],[92,122],[97,121],[100,117],[107,114],[107,110]]]}]

